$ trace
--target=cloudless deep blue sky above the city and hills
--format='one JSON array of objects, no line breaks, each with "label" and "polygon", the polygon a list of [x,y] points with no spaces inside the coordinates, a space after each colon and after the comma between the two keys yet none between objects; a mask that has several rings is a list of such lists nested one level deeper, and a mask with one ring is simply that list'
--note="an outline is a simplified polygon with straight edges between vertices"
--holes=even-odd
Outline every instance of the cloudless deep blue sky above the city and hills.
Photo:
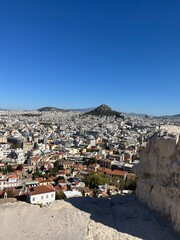
[{"label": "cloudless deep blue sky above the city and hills", "polygon": [[1,0],[0,108],[180,113],[179,0]]}]

